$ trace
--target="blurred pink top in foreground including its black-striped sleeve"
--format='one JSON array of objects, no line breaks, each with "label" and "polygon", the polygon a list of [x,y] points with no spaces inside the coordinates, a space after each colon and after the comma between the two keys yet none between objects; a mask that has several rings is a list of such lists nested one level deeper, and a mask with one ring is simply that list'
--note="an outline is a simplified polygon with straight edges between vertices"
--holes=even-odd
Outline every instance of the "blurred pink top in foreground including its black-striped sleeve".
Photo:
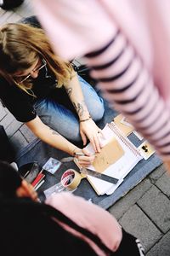
[{"label": "blurred pink top in foreground including its black-striped sleeve", "polygon": [[69,60],[86,55],[111,107],[127,116],[162,159],[170,159],[170,2],[34,4],[56,53]]}]

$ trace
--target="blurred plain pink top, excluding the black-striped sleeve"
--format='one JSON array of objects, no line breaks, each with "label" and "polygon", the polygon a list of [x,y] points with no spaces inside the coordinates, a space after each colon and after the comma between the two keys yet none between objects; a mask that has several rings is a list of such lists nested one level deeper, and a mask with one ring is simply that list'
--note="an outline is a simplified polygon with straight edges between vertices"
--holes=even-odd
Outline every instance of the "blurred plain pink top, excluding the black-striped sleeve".
[{"label": "blurred plain pink top, excluding the black-striped sleeve", "polygon": [[[34,1],[60,55],[72,59],[105,44],[122,27],[170,106],[170,2],[168,0]],[[51,29],[49,29],[51,28]]]}]

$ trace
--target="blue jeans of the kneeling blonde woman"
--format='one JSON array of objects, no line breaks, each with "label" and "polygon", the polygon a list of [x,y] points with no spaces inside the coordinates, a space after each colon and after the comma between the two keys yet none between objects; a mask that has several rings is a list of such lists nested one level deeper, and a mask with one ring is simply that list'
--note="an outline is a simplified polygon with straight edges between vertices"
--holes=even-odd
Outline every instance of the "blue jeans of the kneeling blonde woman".
[{"label": "blue jeans of the kneeling blonde woman", "polygon": [[[88,111],[95,122],[99,121],[105,112],[103,99],[98,96],[94,88],[84,79],[80,76],[78,76],[78,79],[82,86],[82,93]],[[54,129],[54,131],[58,131],[66,139],[73,142],[80,142],[82,138],[79,132],[78,116],[71,103],[70,105],[69,107],[65,107],[54,98],[47,97],[37,101],[35,108],[37,115],[42,119],[44,124]]]}]

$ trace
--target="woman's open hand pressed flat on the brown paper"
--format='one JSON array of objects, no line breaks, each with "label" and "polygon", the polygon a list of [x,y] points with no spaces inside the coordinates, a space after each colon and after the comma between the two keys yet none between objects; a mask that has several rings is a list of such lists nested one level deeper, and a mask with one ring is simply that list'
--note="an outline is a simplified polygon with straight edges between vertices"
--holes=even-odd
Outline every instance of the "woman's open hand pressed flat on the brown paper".
[{"label": "woman's open hand pressed flat on the brown paper", "polygon": [[84,146],[86,145],[88,138],[94,147],[94,151],[100,152],[100,148],[102,148],[100,137],[103,137],[103,133],[102,130],[94,123],[93,119],[80,122],[80,134]]}]

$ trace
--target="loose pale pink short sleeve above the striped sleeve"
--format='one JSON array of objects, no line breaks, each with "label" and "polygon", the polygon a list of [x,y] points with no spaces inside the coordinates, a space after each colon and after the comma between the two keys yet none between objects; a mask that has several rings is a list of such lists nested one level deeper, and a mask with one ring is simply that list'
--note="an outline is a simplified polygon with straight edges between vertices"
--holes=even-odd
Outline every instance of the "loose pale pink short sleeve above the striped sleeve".
[{"label": "loose pale pink short sleeve above the striped sleeve", "polygon": [[[87,50],[95,49],[96,45],[100,47],[111,38],[112,32],[115,32],[107,14],[96,1],[50,0],[50,4],[48,1],[34,1],[33,4],[42,25],[47,28],[54,49],[66,59],[84,55]],[[91,20],[94,13],[95,18]],[[103,19],[102,24],[100,19]],[[72,29],[73,27],[75,29]],[[93,27],[97,29],[95,37]],[[102,37],[100,31],[105,31]]]}]

